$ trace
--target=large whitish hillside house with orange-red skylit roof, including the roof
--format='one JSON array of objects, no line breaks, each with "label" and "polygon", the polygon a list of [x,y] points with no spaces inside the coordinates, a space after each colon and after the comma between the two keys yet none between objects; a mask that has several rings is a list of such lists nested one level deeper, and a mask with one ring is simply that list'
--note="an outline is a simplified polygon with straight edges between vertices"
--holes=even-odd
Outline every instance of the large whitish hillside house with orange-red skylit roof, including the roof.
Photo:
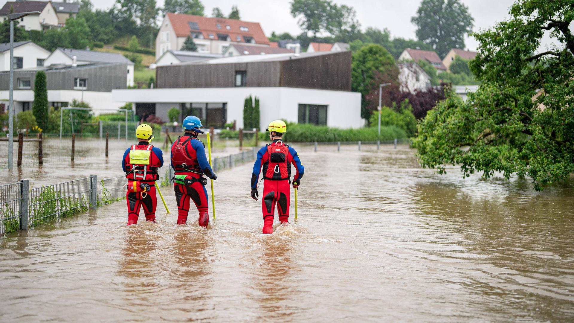
[{"label": "large whitish hillside house with orange-red skylit roof, including the roof", "polygon": [[220,54],[234,43],[269,46],[258,22],[167,13],[156,37],[156,58],[170,49],[181,49],[187,36],[204,53]]}]

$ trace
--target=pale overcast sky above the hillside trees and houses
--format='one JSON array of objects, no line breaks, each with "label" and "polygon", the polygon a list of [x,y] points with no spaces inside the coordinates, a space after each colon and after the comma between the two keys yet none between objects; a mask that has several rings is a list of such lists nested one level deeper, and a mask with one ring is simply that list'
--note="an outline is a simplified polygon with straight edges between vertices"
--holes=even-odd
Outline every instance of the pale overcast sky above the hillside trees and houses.
[{"label": "pale overcast sky above the hillside trees and houses", "polygon": [[[156,0],[163,6],[164,0]],[[474,31],[485,29],[509,17],[508,9],[514,0],[461,0],[468,6],[475,20]],[[107,9],[115,0],[92,0],[98,9]],[[213,7],[220,7],[228,14],[232,5],[239,7],[241,19],[261,23],[267,36],[271,32],[299,34],[297,20],[290,14],[289,0],[202,0],[205,14],[211,16]],[[410,17],[416,14],[420,0],[335,0],[355,8],[362,29],[373,26],[388,28],[393,37],[416,39],[415,27]],[[474,50],[478,43],[472,37],[465,41],[468,49]]]}]

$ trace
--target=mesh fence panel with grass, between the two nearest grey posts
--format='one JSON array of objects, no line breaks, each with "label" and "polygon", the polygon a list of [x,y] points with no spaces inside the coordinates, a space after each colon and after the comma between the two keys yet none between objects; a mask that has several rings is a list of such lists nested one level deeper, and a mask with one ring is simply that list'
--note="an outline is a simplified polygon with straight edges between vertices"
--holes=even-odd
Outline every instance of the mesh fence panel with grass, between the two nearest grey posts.
[{"label": "mesh fence panel with grass, between the two nearest grey posts", "polygon": [[35,226],[87,210],[90,193],[90,177],[30,190],[28,225]]}]

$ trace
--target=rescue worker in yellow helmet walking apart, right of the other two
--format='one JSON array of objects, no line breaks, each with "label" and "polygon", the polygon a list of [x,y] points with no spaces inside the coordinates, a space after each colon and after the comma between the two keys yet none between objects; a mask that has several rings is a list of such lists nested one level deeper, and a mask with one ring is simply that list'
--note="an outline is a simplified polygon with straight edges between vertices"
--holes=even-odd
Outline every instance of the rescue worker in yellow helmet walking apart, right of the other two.
[{"label": "rescue worker in yellow helmet walking apart, right of the other two", "polygon": [[259,181],[259,172],[261,172],[263,167],[263,201],[261,202],[263,233],[273,233],[275,205],[277,205],[279,222],[289,222],[291,164],[297,170],[295,176],[293,176],[294,189],[297,189],[301,184],[301,177],[305,172],[305,167],[301,164],[295,149],[284,144],[281,140],[281,137],[287,131],[285,122],[281,120],[272,121],[266,130],[269,131],[272,143],[267,144],[257,152],[257,159],[255,159],[253,174],[251,175],[251,198],[257,201],[257,197],[259,197],[257,183]]}]

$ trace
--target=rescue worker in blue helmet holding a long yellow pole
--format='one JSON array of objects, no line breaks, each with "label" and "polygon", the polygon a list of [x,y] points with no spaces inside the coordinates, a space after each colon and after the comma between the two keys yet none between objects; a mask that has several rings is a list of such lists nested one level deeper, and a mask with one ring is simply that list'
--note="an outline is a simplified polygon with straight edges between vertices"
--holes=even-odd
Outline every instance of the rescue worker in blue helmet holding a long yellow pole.
[{"label": "rescue worker in blue helmet holding a long yellow pole", "polygon": [[176,193],[177,224],[185,224],[189,213],[189,199],[195,203],[199,212],[199,225],[207,228],[210,222],[207,204],[207,179],[203,174],[213,180],[217,175],[205,157],[205,146],[197,139],[201,121],[195,116],[188,116],[183,121],[184,134],[174,141],[171,148],[172,167],[175,171],[173,177],[173,190]]}]

